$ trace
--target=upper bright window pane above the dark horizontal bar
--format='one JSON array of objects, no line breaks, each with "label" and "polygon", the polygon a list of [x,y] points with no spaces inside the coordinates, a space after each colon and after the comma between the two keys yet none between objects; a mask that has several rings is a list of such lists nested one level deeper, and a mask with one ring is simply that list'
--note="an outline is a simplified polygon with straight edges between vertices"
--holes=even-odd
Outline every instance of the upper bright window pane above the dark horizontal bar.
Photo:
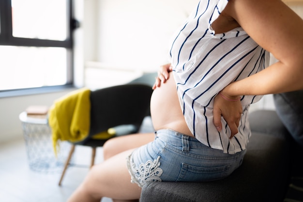
[{"label": "upper bright window pane above the dark horizontal bar", "polygon": [[67,0],[12,0],[13,36],[64,41]]}]

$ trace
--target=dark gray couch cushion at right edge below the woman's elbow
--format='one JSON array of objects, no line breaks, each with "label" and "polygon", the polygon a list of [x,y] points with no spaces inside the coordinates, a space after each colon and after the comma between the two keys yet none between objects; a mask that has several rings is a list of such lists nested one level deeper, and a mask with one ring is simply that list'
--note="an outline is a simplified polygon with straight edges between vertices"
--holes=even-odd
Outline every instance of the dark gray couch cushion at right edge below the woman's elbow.
[{"label": "dark gray couch cushion at right edge below the woman's elbow", "polygon": [[277,114],[290,135],[303,146],[303,90],[273,95]]}]

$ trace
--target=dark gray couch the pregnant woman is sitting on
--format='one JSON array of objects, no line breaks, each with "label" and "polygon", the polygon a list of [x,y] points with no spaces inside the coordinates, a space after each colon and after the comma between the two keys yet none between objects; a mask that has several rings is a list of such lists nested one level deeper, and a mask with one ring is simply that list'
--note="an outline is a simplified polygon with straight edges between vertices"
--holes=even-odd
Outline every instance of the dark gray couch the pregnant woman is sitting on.
[{"label": "dark gray couch the pregnant woman is sitting on", "polygon": [[140,202],[283,202],[293,197],[289,184],[295,177],[303,177],[299,168],[303,159],[299,146],[303,145],[302,98],[303,91],[274,95],[276,111],[250,114],[252,137],[247,153],[242,166],[229,177],[199,183],[150,182],[143,186]]}]

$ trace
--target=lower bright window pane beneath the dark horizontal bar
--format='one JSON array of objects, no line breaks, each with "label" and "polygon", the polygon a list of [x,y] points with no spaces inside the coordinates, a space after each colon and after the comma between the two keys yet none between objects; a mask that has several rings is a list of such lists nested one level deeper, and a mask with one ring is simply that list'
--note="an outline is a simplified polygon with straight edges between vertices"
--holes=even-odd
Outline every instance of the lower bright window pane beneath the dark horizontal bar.
[{"label": "lower bright window pane beneath the dark horizontal bar", "polygon": [[67,50],[0,46],[0,90],[64,85]]}]

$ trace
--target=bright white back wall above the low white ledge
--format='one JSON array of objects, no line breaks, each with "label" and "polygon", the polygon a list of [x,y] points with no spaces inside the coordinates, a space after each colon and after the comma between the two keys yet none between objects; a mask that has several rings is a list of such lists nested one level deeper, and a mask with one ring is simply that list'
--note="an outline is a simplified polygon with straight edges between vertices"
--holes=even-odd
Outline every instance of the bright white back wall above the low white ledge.
[{"label": "bright white back wall above the low white ledge", "polygon": [[[98,61],[156,71],[198,0],[101,0]],[[121,46],[122,45],[122,46]]]}]

